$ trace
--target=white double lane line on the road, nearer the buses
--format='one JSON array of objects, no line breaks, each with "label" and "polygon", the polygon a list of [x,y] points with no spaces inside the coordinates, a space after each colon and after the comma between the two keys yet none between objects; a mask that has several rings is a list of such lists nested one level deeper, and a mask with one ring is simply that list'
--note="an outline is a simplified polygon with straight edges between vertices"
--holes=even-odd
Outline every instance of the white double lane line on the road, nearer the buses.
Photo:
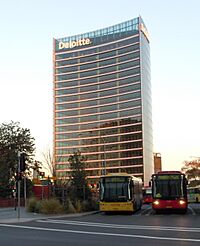
[{"label": "white double lane line on the road, nearer the buses", "polygon": [[169,227],[169,226],[141,226],[141,225],[119,225],[119,224],[104,224],[93,222],[82,222],[75,220],[37,220],[41,223],[64,224],[64,225],[79,225],[91,227],[105,227],[105,228],[120,228],[120,229],[135,229],[135,230],[159,230],[159,231],[179,231],[179,232],[198,232],[200,227]]}]

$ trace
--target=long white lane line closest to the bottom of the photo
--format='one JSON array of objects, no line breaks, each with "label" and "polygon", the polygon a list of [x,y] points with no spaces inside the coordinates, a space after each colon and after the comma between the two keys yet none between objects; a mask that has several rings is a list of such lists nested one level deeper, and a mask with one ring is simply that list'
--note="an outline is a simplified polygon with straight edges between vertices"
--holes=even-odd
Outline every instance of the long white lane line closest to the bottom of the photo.
[{"label": "long white lane line closest to the bottom of the photo", "polygon": [[195,239],[195,238],[154,237],[154,236],[144,236],[144,235],[116,234],[116,233],[103,233],[103,232],[90,232],[90,231],[75,231],[75,230],[64,230],[64,229],[53,229],[53,228],[32,227],[32,226],[21,226],[21,225],[9,225],[9,224],[0,224],[0,227],[12,227],[12,228],[29,229],[29,230],[38,230],[38,231],[52,231],[52,232],[64,232],[64,233],[78,233],[78,234],[101,235],[101,236],[112,236],[112,237],[130,237],[130,238],[155,239],[155,240],[167,240],[167,241],[200,242],[200,239]]}]

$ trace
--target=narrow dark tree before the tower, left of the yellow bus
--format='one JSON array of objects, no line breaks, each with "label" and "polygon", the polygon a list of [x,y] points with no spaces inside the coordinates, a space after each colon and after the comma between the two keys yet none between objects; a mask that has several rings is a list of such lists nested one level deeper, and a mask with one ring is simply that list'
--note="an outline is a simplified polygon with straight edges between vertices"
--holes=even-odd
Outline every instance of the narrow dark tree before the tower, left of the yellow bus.
[{"label": "narrow dark tree before the tower, left of the yellow bus", "polygon": [[79,151],[69,157],[71,169],[70,181],[72,194],[75,199],[85,200],[90,197],[90,190],[86,179],[86,158]]}]

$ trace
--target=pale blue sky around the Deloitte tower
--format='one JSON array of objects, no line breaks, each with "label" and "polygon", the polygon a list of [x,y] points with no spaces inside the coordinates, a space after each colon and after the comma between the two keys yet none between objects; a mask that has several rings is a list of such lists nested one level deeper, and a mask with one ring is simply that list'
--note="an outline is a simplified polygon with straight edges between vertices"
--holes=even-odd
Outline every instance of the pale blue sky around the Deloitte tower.
[{"label": "pale blue sky around the Deloitte tower", "polygon": [[53,37],[141,15],[150,34],[154,151],[163,169],[200,156],[200,1],[0,0],[0,123],[31,130],[38,152],[52,145]]}]

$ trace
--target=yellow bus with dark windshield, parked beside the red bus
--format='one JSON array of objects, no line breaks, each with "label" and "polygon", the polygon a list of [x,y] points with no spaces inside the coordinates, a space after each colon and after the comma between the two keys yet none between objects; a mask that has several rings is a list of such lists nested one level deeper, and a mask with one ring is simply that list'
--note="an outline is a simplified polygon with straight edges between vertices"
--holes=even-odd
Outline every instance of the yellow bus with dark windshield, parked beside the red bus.
[{"label": "yellow bus with dark windshield, parked beside the red bus", "polygon": [[102,212],[134,212],[142,206],[142,180],[126,173],[100,177],[99,209]]}]

